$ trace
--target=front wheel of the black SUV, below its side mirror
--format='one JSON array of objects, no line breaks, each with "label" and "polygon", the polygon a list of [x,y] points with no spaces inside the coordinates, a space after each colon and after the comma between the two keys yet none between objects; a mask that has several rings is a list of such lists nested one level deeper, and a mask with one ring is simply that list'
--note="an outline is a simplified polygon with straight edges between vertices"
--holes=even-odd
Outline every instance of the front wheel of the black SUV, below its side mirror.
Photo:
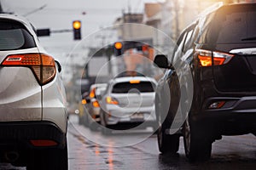
[{"label": "front wheel of the black SUV, below its side mirror", "polygon": [[175,154],[179,147],[178,134],[166,134],[166,122],[160,125],[157,133],[158,148],[162,154]]}]

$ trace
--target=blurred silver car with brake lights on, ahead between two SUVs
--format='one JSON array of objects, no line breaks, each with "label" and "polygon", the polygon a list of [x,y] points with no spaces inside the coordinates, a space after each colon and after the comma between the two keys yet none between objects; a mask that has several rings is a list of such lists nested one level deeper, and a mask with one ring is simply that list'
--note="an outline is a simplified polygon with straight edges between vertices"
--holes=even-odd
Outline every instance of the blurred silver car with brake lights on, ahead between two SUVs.
[{"label": "blurred silver car with brake lights on, ahead between two SUVs", "polygon": [[[144,123],[155,127],[155,86],[151,77],[117,77],[108,82],[100,103],[102,126],[129,129]],[[106,129],[102,128],[102,133]]]}]

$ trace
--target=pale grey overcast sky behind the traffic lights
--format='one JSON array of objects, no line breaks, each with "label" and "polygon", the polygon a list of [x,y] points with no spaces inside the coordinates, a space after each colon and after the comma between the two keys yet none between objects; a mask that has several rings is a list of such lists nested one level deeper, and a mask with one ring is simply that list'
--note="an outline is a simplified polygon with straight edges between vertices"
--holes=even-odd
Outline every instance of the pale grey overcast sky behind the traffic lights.
[{"label": "pale grey overcast sky behind the traffic lights", "polygon": [[[113,26],[114,20],[122,15],[122,11],[143,13],[146,2],[162,0],[0,0],[7,12],[15,12],[26,16],[36,28],[49,28],[52,31],[72,29],[73,20],[82,21],[82,36],[99,31],[102,27]],[[37,12],[32,11],[44,7]],[[32,14],[31,14],[32,13]],[[76,42],[72,32],[55,33],[50,37],[40,37],[45,48],[50,51],[70,50]]]}]

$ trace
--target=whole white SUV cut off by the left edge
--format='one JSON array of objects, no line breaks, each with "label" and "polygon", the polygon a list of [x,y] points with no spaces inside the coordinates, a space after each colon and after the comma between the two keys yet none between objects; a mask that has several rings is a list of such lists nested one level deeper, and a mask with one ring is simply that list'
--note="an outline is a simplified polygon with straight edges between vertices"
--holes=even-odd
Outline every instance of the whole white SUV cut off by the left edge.
[{"label": "whole white SUV cut off by the left edge", "polygon": [[1,161],[27,169],[67,169],[67,102],[60,71],[27,20],[0,14]]}]

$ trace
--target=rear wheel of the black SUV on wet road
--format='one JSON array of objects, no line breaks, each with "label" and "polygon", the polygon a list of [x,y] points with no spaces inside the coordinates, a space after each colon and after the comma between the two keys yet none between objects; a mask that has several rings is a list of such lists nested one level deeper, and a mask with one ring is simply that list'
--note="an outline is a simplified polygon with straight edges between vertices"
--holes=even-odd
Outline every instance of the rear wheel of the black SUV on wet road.
[{"label": "rear wheel of the black SUV on wet road", "polygon": [[[192,125],[192,126],[191,126]],[[206,135],[199,133],[189,118],[183,126],[183,143],[189,161],[207,161],[211,157],[212,142]]]}]

